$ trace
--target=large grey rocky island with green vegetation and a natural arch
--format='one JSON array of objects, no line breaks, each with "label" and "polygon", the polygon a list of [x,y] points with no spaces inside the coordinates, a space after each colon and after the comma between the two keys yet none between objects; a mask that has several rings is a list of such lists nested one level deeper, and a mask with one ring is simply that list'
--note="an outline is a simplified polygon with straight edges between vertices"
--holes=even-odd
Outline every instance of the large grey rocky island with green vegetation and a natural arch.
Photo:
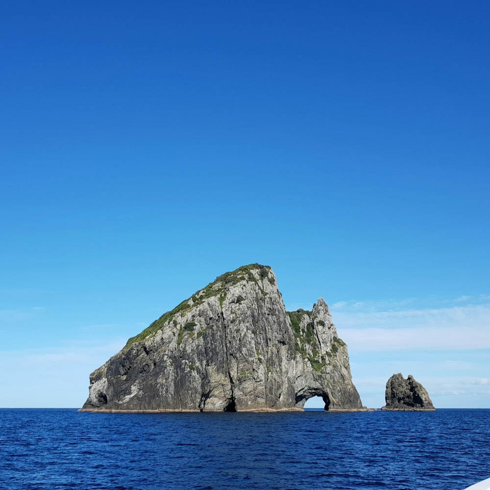
[{"label": "large grey rocky island with green vegetation and a natural arch", "polygon": [[89,411],[362,409],[323,299],[286,312],[270,267],[227,272],[90,375]]}]

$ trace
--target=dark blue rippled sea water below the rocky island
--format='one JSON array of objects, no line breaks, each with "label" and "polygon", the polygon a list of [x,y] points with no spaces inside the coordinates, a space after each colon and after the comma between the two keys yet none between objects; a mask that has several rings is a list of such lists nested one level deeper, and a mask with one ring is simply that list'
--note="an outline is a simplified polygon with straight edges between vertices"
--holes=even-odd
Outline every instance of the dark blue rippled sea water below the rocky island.
[{"label": "dark blue rippled sea water below the rocky island", "polygon": [[0,410],[1,489],[462,490],[488,477],[490,410]]}]

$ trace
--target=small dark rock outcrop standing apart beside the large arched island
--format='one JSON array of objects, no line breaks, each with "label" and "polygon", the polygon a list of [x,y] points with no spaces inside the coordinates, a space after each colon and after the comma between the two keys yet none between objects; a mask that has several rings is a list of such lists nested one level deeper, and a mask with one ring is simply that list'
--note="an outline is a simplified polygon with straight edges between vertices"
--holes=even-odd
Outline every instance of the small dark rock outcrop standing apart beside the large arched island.
[{"label": "small dark rock outcrop standing apart beside the large arched island", "polygon": [[393,374],[386,383],[386,405],[381,410],[436,410],[429,393],[409,374]]}]

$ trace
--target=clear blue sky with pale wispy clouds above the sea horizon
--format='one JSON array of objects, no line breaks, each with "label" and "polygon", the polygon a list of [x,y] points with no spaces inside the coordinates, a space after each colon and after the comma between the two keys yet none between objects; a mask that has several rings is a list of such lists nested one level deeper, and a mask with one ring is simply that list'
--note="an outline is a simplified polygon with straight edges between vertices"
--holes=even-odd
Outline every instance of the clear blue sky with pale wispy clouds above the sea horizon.
[{"label": "clear blue sky with pale wispy clouds above the sea horizon", "polygon": [[217,275],[331,306],[393,372],[490,407],[485,2],[11,2],[0,19],[0,406],[88,375]]}]

